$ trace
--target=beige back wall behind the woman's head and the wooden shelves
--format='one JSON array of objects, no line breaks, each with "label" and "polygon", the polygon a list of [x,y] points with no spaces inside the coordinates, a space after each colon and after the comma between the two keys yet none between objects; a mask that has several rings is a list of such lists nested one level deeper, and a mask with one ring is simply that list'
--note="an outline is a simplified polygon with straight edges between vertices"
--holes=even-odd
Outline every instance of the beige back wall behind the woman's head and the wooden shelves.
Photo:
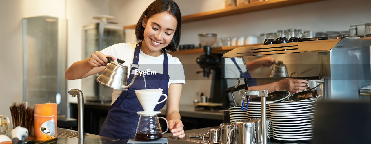
[{"label": "beige back wall behind the woman's head and the wooden shelves", "polygon": [[[110,14],[116,16],[119,23],[136,24],[139,16],[152,1],[109,0]],[[180,7],[182,15],[224,8],[223,0],[174,1]],[[370,7],[370,0],[325,0],[184,23],[180,43],[198,45],[197,34],[204,32],[217,33],[218,37],[238,37],[259,36],[260,33],[290,28],[314,32],[347,31],[350,25],[371,22]],[[135,34],[130,33],[127,38],[135,40]],[[196,65],[197,56],[197,54],[184,55],[178,58],[183,64]],[[185,69],[187,84],[183,85],[181,104],[193,104],[193,99],[199,98],[196,92],[206,91],[206,96],[209,96],[211,81],[201,77],[201,74],[195,74],[200,70],[197,66]],[[237,84],[232,81],[230,85],[235,85],[234,83]]]}]

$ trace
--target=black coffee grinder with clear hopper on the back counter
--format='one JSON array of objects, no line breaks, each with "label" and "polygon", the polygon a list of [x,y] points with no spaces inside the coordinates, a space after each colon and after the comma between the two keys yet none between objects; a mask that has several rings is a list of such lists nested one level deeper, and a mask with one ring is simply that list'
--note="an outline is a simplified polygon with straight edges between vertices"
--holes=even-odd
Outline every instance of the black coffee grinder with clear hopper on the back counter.
[{"label": "black coffee grinder with clear hopper on the back counter", "polygon": [[209,102],[222,103],[224,107],[228,107],[229,100],[227,92],[225,91],[227,81],[226,79],[221,79],[220,58],[222,55],[211,53],[211,45],[215,43],[216,37],[217,35],[215,33],[198,34],[198,41],[200,41],[204,49],[204,54],[196,59],[197,64],[203,69],[203,71],[197,73],[203,72],[203,76],[207,78],[213,73]]}]

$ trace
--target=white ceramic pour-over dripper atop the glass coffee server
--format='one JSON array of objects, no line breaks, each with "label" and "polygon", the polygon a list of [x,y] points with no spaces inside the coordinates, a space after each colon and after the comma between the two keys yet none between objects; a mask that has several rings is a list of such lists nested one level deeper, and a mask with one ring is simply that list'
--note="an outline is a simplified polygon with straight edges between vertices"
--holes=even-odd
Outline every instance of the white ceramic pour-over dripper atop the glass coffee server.
[{"label": "white ceramic pour-over dripper atop the glass coffee server", "polygon": [[[142,105],[144,112],[153,112],[157,104],[164,102],[167,99],[166,94],[162,94],[162,89],[140,89],[135,90],[140,104]],[[158,102],[161,95],[165,96],[165,99]]]}]

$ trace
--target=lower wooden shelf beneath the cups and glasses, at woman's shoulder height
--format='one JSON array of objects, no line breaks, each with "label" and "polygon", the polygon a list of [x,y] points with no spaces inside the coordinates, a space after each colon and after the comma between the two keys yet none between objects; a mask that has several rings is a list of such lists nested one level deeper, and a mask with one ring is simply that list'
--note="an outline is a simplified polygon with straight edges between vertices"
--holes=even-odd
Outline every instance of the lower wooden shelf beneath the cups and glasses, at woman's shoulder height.
[{"label": "lower wooden shelf beneath the cups and glasses, at woman's shoulder height", "polygon": [[[263,45],[263,43],[258,43],[254,45],[243,45],[243,46],[222,46],[220,48],[211,48],[211,53],[221,53],[224,54],[228,52],[229,50],[235,49],[235,48],[240,48],[240,47],[246,47],[246,46],[259,46]],[[198,48],[198,49],[185,49],[185,50],[178,50],[176,52],[170,52],[172,56],[177,56],[177,55],[191,55],[191,54],[202,54],[204,53],[203,48]]]}]

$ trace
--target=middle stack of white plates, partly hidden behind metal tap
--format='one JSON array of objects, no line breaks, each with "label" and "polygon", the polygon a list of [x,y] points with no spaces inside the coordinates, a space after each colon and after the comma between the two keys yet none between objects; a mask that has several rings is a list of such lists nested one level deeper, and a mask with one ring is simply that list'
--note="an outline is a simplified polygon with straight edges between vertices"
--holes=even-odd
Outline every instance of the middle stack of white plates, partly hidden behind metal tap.
[{"label": "middle stack of white plates, partly hidden behind metal tap", "polygon": [[[270,110],[269,110],[269,103],[266,102],[266,115],[267,119],[270,118]],[[245,102],[244,105],[246,105],[247,102]],[[247,105],[247,118],[262,118],[262,107],[260,102],[249,102],[249,105]],[[273,137],[273,129],[270,127],[270,137]]]}]

